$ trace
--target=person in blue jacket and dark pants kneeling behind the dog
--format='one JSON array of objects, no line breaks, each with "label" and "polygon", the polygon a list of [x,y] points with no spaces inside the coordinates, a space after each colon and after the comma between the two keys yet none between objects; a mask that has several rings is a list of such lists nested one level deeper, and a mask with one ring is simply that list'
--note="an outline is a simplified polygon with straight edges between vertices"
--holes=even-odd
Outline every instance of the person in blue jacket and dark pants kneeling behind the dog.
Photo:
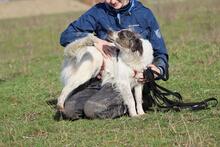
[{"label": "person in blue jacket and dark pants kneeling behind the dog", "polygon": [[[104,0],[94,5],[62,32],[60,44],[65,47],[72,41],[93,33],[100,38],[96,47],[107,55],[104,49],[110,44],[106,41],[107,32],[127,28],[132,28],[142,38],[151,42],[154,61],[149,67],[168,79],[168,53],[159,25],[152,11],[138,0]],[[155,78],[159,79],[156,75]],[[100,80],[91,79],[75,90],[65,102],[63,116],[75,120],[83,117],[115,118],[126,114],[127,108],[112,84],[100,84]],[[148,107],[150,101],[147,87],[145,84],[144,108]]]}]

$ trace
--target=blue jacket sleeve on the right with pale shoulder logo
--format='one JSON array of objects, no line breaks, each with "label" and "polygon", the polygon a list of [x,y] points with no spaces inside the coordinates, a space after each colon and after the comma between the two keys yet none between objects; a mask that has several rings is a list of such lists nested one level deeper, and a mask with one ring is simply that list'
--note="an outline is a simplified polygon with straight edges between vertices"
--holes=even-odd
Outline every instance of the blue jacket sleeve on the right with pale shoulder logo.
[{"label": "blue jacket sleeve on the right with pale shoulder logo", "polygon": [[159,25],[155,19],[153,13],[149,13],[149,41],[152,44],[154,50],[154,61],[153,64],[156,65],[161,70],[161,75],[164,79],[168,80],[168,53],[167,48],[164,43],[163,36],[161,35]]}]

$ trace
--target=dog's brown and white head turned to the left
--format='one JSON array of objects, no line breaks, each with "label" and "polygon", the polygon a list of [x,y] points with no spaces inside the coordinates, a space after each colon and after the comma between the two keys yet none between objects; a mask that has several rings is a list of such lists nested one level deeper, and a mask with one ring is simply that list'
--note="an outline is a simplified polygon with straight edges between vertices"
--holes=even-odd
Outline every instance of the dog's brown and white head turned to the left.
[{"label": "dog's brown and white head turned to the left", "polygon": [[120,50],[138,52],[143,54],[142,41],[137,33],[129,29],[124,29],[118,32],[108,32],[108,40],[113,42]]}]

